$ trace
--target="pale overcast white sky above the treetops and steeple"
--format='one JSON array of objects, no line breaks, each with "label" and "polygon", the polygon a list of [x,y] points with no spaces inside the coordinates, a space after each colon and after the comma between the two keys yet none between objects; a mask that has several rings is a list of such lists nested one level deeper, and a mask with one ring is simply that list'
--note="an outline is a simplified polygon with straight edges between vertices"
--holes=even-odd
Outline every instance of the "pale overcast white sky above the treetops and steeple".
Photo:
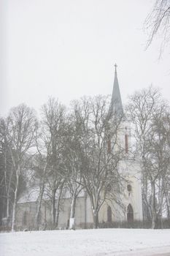
[{"label": "pale overcast white sky above the treetops and steeple", "polygon": [[112,94],[114,64],[123,103],[160,87],[170,100],[169,49],[144,47],[144,19],[154,0],[0,0],[0,115],[49,96],[69,105],[83,95]]}]

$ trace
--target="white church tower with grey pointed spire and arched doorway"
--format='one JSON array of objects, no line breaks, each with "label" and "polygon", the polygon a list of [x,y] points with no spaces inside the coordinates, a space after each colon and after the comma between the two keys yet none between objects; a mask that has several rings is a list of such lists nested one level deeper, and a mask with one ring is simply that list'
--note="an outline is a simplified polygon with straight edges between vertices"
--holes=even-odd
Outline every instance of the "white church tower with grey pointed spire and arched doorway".
[{"label": "white church tower with grey pointed spire and arched doorway", "polygon": [[[117,79],[117,64],[115,64],[115,78],[109,114],[121,118],[119,137],[124,151],[123,159],[120,160],[118,165],[118,171],[124,179],[123,192],[120,196],[122,206],[120,209],[115,206],[117,211],[114,212],[112,220],[114,221],[115,219],[115,221],[118,222],[142,220],[141,167],[139,159],[135,159],[132,152],[134,143],[134,138],[132,136],[133,132],[131,131],[131,124],[129,124],[125,118],[125,113],[123,113],[123,104]],[[107,208],[107,211],[108,209],[111,211],[110,208]]]}]

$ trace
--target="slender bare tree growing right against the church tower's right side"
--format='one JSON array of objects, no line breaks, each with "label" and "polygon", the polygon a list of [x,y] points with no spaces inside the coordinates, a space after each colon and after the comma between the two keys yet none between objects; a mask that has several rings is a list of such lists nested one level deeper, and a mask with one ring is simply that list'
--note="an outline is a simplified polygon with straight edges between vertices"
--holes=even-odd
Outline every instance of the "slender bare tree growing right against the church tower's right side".
[{"label": "slender bare tree growing right against the church tower's right side", "polygon": [[[145,141],[151,130],[152,117],[158,109],[157,102],[160,99],[160,93],[158,89],[153,89],[152,86],[149,89],[143,89],[142,91],[135,92],[131,97],[126,111],[126,116],[129,118],[132,124],[134,124],[134,137],[136,138],[136,151],[140,155],[141,159],[144,159]],[[147,217],[151,217],[150,209],[150,187],[148,184],[147,173],[142,166],[142,198],[143,208]]]}]

